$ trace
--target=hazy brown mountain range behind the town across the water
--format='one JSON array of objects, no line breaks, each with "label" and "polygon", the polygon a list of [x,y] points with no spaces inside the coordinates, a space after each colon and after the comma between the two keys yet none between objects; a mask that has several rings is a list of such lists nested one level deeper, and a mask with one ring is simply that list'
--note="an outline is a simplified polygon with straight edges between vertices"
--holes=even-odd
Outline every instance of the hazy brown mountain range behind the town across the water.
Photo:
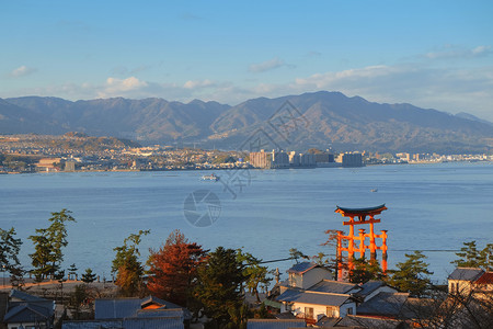
[{"label": "hazy brown mountain range behind the town across the water", "polygon": [[289,140],[271,132],[274,145],[285,149],[458,154],[489,152],[493,148],[493,125],[470,114],[379,104],[328,91],[257,98],[234,106],[156,98],[76,102],[41,97],[0,99],[0,133],[82,132],[140,144],[238,149],[255,131],[268,128],[267,120],[287,101],[306,125],[296,129]]}]

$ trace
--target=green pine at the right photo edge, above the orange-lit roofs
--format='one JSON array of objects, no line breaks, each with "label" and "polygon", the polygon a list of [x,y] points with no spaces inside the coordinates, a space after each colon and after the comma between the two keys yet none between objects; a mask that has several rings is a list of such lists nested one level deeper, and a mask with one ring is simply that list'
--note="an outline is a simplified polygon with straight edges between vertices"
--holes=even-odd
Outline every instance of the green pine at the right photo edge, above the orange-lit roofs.
[{"label": "green pine at the right photo edge, above the orange-lit roofs", "polygon": [[459,268],[481,268],[486,271],[493,269],[493,243],[488,243],[482,250],[478,250],[475,241],[463,242],[460,252],[456,252],[458,260],[452,261]]}]

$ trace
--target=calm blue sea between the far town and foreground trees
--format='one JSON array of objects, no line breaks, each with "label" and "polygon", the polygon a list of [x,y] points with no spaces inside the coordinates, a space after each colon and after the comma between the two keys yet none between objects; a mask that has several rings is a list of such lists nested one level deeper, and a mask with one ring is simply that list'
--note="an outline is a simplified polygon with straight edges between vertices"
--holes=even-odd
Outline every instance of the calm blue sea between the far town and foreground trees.
[{"label": "calm blue sea between the far town and foreground trees", "polygon": [[[446,281],[466,241],[493,242],[493,162],[386,164],[362,168],[210,171],[56,172],[0,175],[0,227],[23,240],[21,261],[32,269],[28,236],[49,226],[53,212],[72,212],[64,266],[74,263],[111,279],[114,248],[139,230],[146,262],[180,229],[205,249],[242,248],[286,270],[289,249],[333,257],[325,230],[348,231],[336,206],[387,211],[375,229],[388,230],[389,269],[421,250],[432,279]],[[357,227],[359,228],[359,227]],[[378,258],[380,254],[378,254]],[[276,261],[279,260],[279,261]]]}]

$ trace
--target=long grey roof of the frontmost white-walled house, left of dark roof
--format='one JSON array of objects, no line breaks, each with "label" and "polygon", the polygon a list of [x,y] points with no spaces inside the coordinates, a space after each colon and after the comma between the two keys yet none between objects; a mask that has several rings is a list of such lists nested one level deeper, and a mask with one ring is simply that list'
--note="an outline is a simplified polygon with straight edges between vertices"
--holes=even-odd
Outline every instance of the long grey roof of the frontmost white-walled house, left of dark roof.
[{"label": "long grey roof of the frontmost white-walled house, left of dark roof", "polygon": [[347,294],[329,294],[300,290],[287,290],[277,297],[278,302],[303,303],[324,306],[341,306],[351,298]]}]

